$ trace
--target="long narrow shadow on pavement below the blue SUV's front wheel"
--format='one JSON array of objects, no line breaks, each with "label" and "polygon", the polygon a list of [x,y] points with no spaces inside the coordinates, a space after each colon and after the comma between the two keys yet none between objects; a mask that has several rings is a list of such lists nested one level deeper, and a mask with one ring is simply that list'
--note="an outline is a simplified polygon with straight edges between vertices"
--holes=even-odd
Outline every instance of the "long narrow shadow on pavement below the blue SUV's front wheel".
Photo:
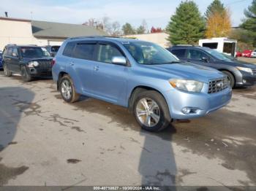
[{"label": "long narrow shadow on pavement below the blue SUV's front wheel", "polygon": [[167,186],[169,190],[176,190],[177,169],[172,146],[173,133],[176,133],[173,125],[159,133],[149,133],[145,130],[140,132],[145,137],[138,166],[143,186]]}]

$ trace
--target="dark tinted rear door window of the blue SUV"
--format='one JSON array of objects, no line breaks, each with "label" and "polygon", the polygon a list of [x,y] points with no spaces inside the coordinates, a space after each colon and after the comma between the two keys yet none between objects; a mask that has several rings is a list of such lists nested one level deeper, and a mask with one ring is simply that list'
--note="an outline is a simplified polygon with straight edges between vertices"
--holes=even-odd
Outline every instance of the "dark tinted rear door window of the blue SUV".
[{"label": "dark tinted rear door window of the blue SUV", "polygon": [[78,43],[75,46],[73,57],[85,60],[92,60],[94,57],[95,47],[96,44]]}]

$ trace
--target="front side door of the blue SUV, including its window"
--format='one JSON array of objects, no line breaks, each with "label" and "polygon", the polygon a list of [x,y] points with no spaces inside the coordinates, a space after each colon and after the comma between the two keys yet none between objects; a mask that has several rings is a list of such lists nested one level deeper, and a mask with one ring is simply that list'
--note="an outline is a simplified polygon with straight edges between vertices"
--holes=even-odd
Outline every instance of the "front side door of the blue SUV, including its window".
[{"label": "front side door of the blue SUV, including its window", "polygon": [[[96,64],[93,69],[92,93],[97,98],[121,104],[126,96],[129,66],[112,63],[115,56],[125,56],[117,44],[99,42],[97,45]],[[128,60],[127,60],[128,61]]]}]

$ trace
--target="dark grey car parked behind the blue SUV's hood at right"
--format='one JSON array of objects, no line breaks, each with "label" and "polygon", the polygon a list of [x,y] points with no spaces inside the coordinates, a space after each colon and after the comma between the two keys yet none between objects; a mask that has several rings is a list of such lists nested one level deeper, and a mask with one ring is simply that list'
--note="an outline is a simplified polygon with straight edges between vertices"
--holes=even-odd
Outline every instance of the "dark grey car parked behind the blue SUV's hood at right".
[{"label": "dark grey car parked behind the blue SUV's hood at right", "polygon": [[167,48],[181,61],[208,66],[227,75],[231,87],[255,85],[256,65],[237,61],[229,55],[212,50],[208,47],[174,46]]}]

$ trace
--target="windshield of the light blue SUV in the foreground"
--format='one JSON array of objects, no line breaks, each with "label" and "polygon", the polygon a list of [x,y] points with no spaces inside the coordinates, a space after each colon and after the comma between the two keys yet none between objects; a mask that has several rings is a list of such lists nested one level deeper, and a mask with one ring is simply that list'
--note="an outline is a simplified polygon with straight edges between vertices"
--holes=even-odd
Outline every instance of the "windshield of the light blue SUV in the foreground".
[{"label": "windshield of the light blue SUV in the foreground", "polygon": [[123,42],[122,44],[140,64],[179,63],[178,58],[157,44],[151,42]]}]

